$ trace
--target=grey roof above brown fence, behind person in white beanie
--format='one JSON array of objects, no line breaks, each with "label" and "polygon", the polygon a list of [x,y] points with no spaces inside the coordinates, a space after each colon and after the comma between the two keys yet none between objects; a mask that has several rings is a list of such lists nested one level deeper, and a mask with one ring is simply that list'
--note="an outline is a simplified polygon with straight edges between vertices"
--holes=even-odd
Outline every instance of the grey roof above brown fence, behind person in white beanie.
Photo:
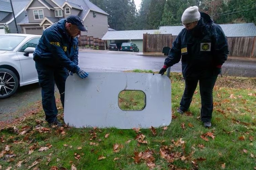
[{"label": "grey roof above brown fence, behind person in white beanie", "polygon": [[[256,26],[254,23],[219,24],[227,37],[251,37],[256,36]],[[178,35],[183,26],[162,26],[161,34]]]}]

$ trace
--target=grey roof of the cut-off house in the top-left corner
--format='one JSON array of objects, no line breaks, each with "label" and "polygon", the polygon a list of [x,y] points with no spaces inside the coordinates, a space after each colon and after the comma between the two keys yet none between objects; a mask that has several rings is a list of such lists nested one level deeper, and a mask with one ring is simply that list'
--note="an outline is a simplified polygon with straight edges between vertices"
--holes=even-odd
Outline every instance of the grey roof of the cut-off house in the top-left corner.
[{"label": "grey roof of the cut-off house in the top-left corner", "polygon": [[[9,0],[1,0],[1,1],[9,2],[10,6],[11,6],[11,3]],[[24,9],[28,3],[29,3],[29,0],[12,0],[13,11],[14,11],[15,17],[18,17],[22,12],[24,12]],[[9,24],[13,20],[14,20],[13,14],[10,13],[4,19],[2,19],[0,21],[0,23]]]}]

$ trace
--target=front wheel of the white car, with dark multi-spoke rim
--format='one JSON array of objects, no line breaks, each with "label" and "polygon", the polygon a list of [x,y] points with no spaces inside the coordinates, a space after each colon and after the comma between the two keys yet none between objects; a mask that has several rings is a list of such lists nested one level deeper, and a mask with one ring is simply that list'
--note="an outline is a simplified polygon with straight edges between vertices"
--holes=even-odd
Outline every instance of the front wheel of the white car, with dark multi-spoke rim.
[{"label": "front wheel of the white car, with dark multi-spoke rim", "polygon": [[0,99],[13,95],[18,86],[17,75],[11,70],[0,68]]}]

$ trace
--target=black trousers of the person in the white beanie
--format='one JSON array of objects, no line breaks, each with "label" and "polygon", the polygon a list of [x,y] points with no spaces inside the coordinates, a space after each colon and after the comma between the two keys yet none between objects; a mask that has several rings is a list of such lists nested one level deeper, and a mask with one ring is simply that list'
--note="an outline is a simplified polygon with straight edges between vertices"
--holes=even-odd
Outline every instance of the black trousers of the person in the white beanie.
[{"label": "black trousers of the person in the white beanie", "polygon": [[200,96],[201,96],[201,121],[210,122],[213,111],[213,87],[217,80],[217,74],[199,78],[185,78],[185,90],[180,102],[180,109],[187,111],[192,101],[194,92],[199,81]]}]

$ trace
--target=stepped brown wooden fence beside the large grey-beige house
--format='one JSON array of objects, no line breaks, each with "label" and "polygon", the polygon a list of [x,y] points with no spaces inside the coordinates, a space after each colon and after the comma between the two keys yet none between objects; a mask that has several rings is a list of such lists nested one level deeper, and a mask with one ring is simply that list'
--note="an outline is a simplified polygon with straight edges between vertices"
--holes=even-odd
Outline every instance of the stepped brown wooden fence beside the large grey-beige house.
[{"label": "stepped brown wooden fence beside the large grey-beige house", "polygon": [[100,49],[104,48],[104,40],[100,38],[94,38],[93,36],[81,35],[79,38],[78,46],[98,46]]}]

